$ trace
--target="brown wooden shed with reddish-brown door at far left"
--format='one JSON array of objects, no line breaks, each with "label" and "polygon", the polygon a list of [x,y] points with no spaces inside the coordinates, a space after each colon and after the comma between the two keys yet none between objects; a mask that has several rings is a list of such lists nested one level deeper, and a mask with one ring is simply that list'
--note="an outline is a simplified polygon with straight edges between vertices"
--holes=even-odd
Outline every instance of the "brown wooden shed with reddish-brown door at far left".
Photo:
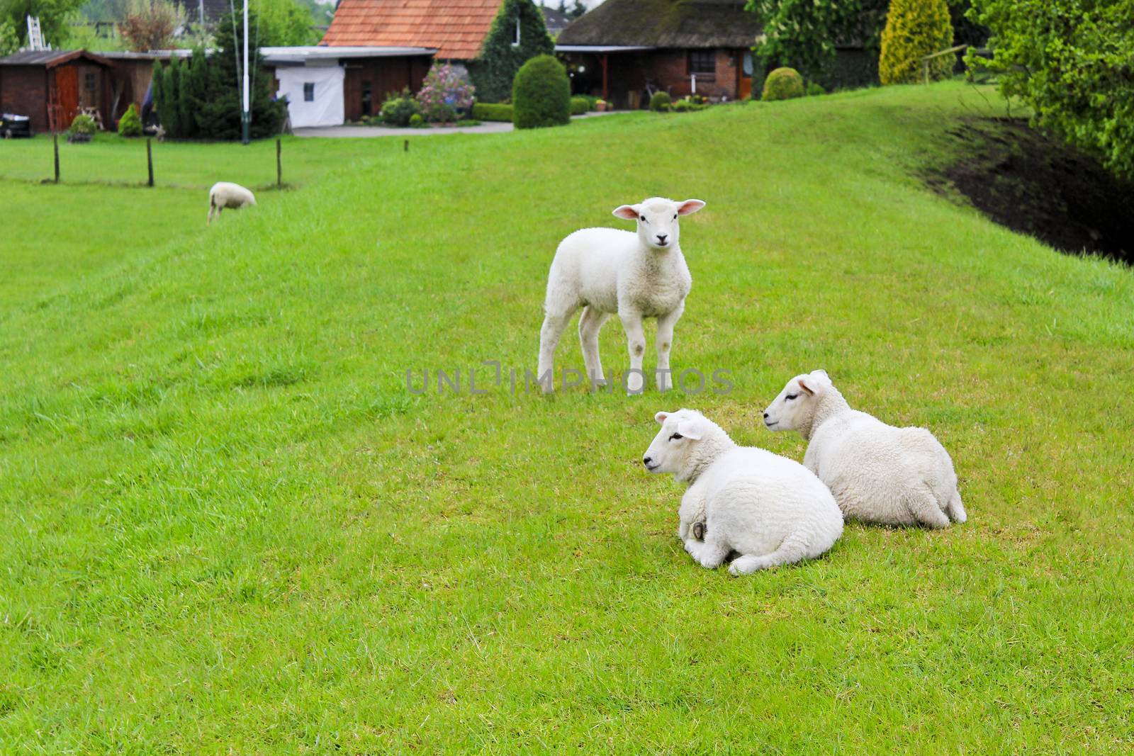
[{"label": "brown wooden shed with reddish-brown door at far left", "polygon": [[0,58],[0,111],[29,116],[36,131],[61,131],[79,108],[112,124],[113,63],[86,50],[28,50]]}]

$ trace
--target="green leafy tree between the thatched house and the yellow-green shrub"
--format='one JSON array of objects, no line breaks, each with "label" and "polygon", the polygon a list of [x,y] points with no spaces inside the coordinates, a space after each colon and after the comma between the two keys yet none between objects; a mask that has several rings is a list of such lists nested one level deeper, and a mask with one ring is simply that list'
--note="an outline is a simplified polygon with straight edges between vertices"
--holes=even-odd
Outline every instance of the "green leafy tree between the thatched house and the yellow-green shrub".
[{"label": "green leafy tree between the thatched house and the yellow-green shrub", "polygon": [[763,33],[753,50],[767,68],[790,66],[816,78],[839,44],[879,49],[888,0],[748,0]]}]

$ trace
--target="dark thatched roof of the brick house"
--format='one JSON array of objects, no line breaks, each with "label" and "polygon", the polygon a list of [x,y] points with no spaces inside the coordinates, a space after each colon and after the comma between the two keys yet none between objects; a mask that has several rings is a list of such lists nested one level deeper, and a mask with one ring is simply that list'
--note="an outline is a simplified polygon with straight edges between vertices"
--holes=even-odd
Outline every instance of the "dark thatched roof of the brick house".
[{"label": "dark thatched roof of the brick house", "polygon": [[559,33],[556,44],[751,48],[760,25],[744,0],[606,0]]}]

